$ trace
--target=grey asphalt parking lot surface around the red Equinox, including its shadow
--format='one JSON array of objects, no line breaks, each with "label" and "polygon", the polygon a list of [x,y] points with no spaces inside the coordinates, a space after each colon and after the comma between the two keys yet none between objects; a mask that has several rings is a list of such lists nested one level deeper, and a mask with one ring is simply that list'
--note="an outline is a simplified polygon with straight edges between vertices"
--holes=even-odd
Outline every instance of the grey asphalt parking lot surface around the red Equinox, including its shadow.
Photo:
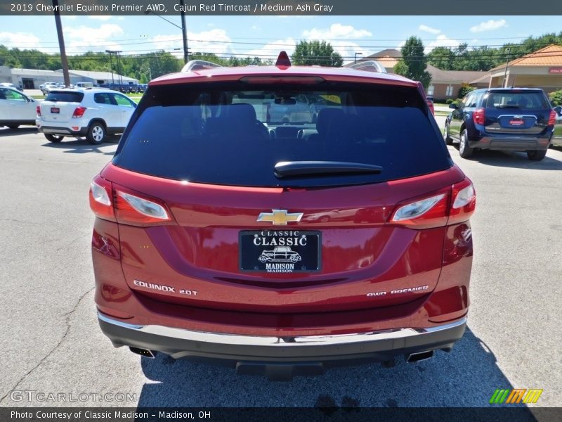
[{"label": "grey asphalt parking lot surface around the red Equinox, including its shadow", "polygon": [[[273,383],[162,354],[141,359],[101,333],[88,188],[117,141],[55,144],[31,127],[0,129],[2,406],[482,407],[497,388],[540,388],[530,406],[562,406],[562,148],[532,162],[501,152],[463,160],[449,147],[478,196],[469,329],[452,352]],[[14,395],[25,390],[136,398],[69,403]]]}]

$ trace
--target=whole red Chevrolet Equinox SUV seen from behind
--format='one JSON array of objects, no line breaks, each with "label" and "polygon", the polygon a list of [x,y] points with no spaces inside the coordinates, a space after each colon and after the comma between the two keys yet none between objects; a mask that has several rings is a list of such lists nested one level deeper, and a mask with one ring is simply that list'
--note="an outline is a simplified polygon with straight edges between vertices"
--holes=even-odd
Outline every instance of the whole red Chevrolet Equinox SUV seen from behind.
[{"label": "whole red Chevrolet Equinox SUV seen from behind", "polygon": [[105,335],[273,379],[450,350],[476,197],[423,92],[283,54],[152,81],[91,184]]}]

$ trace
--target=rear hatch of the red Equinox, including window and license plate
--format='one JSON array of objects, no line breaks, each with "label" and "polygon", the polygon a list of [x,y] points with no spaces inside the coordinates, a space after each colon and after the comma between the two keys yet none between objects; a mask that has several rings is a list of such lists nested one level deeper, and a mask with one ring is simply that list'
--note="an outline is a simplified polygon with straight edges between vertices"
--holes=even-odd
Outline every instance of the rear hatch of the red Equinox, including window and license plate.
[{"label": "rear hatch of the red Equinox, including window and license plate", "polygon": [[[277,122],[272,102],[311,112]],[[101,176],[117,204],[129,207],[126,193],[169,212],[164,224],[117,216],[131,289],[270,312],[388,306],[431,292],[443,226],[388,220],[398,203],[464,179],[416,87],[240,82],[150,87]]]}]

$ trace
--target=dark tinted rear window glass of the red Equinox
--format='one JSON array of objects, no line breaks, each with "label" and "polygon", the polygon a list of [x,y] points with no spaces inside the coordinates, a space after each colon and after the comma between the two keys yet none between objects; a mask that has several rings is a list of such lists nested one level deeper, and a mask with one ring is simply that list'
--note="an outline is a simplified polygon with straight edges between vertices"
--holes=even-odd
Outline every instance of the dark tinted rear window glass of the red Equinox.
[{"label": "dark tinted rear window glass of the red Equinox", "polygon": [[[275,174],[279,162],[303,161],[382,171]],[[302,187],[377,183],[452,165],[417,89],[327,82],[149,87],[113,162],[167,179]]]}]

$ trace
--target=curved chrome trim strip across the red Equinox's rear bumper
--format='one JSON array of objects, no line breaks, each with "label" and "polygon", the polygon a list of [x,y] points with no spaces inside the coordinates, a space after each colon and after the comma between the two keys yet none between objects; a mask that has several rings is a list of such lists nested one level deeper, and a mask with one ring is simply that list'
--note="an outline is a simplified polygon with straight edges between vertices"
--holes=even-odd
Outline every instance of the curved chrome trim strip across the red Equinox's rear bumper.
[{"label": "curved chrome trim strip across the red Equinox's rear bumper", "polygon": [[268,337],[260,335],[237,335],[226,333],[205,333],[203,331],[190,331],[182,328],[148,325],[140,326],[127,324],[122,321],[108,318],[98,312],[98,318],[107,324],[113,324],[130,330],[141,331],[147,334],[163,335],[164,337],[179,338],[182,340],[200,341],[203,343],[221,343],[228,345],[244,346],[271,346],[271,347],[298,347],[306,345],[341,345],[361,343],[375,340],[390,340],[406,338],[413,335],[424,335],[436,331],[447,330],[466,324],[466,316],[459,321],[431,328],[398,328],[390,331],[372,331],[370,333],[336,334],[336,335],[303,335],[300,337]]}]

